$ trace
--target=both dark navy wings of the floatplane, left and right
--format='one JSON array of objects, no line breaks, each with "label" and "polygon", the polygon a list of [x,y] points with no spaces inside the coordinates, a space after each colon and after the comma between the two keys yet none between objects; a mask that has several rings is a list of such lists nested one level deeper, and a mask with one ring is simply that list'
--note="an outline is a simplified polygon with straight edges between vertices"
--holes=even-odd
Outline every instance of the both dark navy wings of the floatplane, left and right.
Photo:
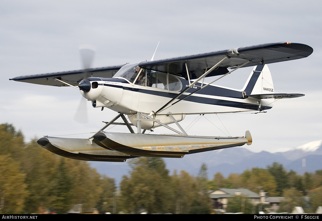
[{"label": "both dark navy wings of the floatplane, left and right", "polygon": [[[268,43],[210,53],[187,55],[159,61],[141,62],[139,66],[149,70],[174,74],[186,79],[188,69],[190,79],[196,79],[204,74],[205,70],[209,70],[225,57],[229,59],[224,60],[215,70],[207,75],[208,77],[226,74],[228,72],[227,68],[236,68],[245,62],[249,63],[244,65],[244,67],[256,66],[259,64],[300,59],[309,56],[312,52],[313,49],[305,44],[288,42]],[[52,86],[67,86],[54,79],[57,78],[71,85],[78,85],[78,83],[84,79],[83,73],[85,71],[87,71],[92,77],[109,78],[112,77],[122,66],[123,65],[117,65],[102,68],[91,68],[88,70],[33,74],[15,77],[10,80]]]}]

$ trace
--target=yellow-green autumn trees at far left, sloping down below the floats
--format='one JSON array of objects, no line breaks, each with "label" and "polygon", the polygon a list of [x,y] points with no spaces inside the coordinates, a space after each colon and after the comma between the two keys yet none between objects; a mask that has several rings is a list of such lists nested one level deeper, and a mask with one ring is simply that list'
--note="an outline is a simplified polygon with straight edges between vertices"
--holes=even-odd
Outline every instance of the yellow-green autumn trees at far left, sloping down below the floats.
[{"label": "yellow-green autumn trees at far left, sloping down below the floats", "polygon": [[24,143],[12,125],[0,125],[0,214],[38,213],[46,208],[66,213],[73,205],[83,211],[111,212],[112,178],[100,175],[88,162],[58,156],[36,140]]}]

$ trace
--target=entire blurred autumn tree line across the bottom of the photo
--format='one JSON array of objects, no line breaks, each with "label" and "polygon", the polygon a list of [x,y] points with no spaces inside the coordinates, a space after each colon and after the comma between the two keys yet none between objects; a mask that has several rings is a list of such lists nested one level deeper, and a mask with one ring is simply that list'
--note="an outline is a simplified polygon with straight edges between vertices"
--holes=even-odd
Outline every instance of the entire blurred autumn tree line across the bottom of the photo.
[{"label": "entire blurred autumn tree line across the bottom of the photo", "polygon": [[[76,204],[82,204],[83,212],[97,208],[100,213],[204,214],[213,211],[210,190],[246,188],[259,193],[259,187],[268,196],[284,196],[287,203],[282,206],[289,209],[293,204],[305,206],[300,199],[308,195],[308,190],[322,185],[322,170],[299,175],[278,163],[232,173],[227,178],[217,172],[209,180],[205,164],[194,176],[184,170],[170,175],[162,158],[127,162],[130,171],[117,188],[113,178],[100,175],[88,162],[55,155],[41,148],[36,140],[24,143],[21,131],[2,124],[0,214],[38,213],[46,208],[66,213]],[[322,205],[321,189],[314,192],[307,205],[311,210]],[[228,208],[234,208],[233,200],[239,199],[231,199]]]}]

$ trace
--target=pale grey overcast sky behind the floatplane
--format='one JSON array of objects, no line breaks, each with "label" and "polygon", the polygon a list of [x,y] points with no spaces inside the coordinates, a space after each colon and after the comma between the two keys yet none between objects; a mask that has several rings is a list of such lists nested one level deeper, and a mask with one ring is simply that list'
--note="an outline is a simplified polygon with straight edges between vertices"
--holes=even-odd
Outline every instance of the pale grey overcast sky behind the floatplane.
[{"label": "pale grey overcast sky behind the floatplane", "polygon": [[[117,113],[92,108],[88,102],[90,123],[79,124],[73,120],[83,98],[79,91],[9,81],[20,75],[81,69],[81,44],[96,46],[92,66],[102,67],[150,60],[159,41],[155,60],[288,41],[308,44],[314,52],[308,58],[268,65],[274,88],[277,92],[306,96],[279,100],[267,113],[207,115],[187,132],[244,136],[250,130],[253,144],[246,148],[254,152],[285,151],[321,140],[321,4],[258,0],[2,0],[0,123],[13,124],[29,141],[43,135],[79,137],[70,134],[96,132],[104,126],[101,121],[114,118]],[[218,84],[241,89],[251,70],[241,68]],[[186,117],[181,123],[183,128],[196,117]],[[109,131],[127,132],[117,127]],[[156,129],[154,133],[169,131]]]}]

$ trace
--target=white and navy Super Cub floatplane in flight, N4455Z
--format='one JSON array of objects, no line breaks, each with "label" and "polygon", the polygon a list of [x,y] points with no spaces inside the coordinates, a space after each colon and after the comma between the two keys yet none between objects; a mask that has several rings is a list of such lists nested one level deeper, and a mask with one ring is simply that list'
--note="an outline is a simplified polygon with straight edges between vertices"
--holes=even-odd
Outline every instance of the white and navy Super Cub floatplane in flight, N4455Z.
[{"label": "white and navy Super Cub floatplane in flight, N4455Z", "polygon": [[[179,122],[188,114],[263,112],[272,100],[304,94],[275,93],[267,64],[308,57],[313,49],[300,43],[267,43],[155,61],[90,68],[94,51],[80,50],[84,68],[78,71],[34,74],[10,80],[79,90],[94,108],[118,114],[88,139],[45,136],[43,148],[72,159],[125,162],[135,157],[182,158],[186,154],[237,147],[252,143],[242,137],[189,136]],[[213,82],[242,67],[254,66],[241,90]],[[215,77],[205,83],[206,77]],[[127,117],[126,117],[127,116]],[[129,132],[104,131],[121,118]],[[170,127],[176,124],[180,130]],[[166,127],[175,134],[146,134]],[[135,132],[133,127],[137,128]]]}]

